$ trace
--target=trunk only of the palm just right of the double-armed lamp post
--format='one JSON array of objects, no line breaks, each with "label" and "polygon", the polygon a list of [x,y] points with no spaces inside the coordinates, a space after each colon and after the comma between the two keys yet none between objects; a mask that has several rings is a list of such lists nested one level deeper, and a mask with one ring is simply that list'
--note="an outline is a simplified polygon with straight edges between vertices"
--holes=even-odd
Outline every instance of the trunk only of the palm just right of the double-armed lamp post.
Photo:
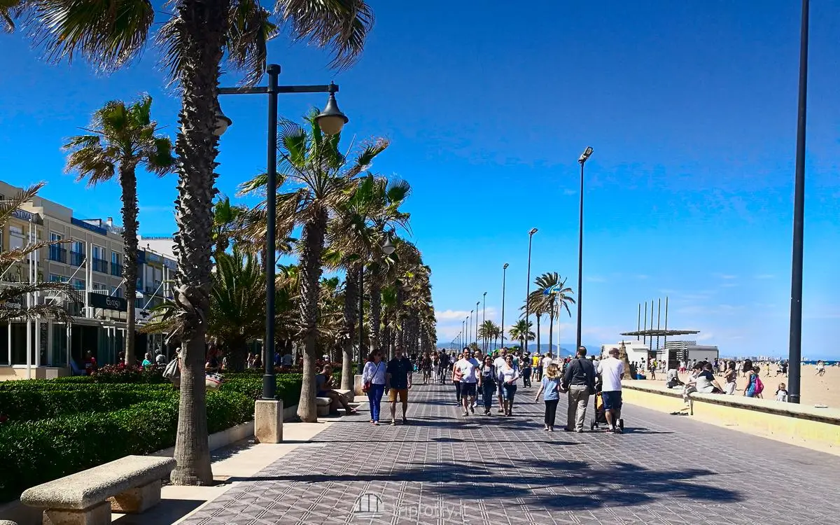
[{"label": "trunk only of the palm just right of the double-armed lamp post", "polygon": [[318,292],[321,281],[321,256],[327,233],[327,210],[313,211],[313,217],[303,225],[301,242],[301,328],[303,330],[303,386],[297,402],[297,416],[305,423],[318,421],[315,406],[315,361],[318,360]]}]

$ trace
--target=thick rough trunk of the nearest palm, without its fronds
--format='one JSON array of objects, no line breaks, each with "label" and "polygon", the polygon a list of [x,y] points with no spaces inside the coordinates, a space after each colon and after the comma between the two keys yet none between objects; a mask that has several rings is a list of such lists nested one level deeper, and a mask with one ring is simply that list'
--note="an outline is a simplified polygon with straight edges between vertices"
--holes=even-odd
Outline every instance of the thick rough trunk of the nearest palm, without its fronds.
[{"label": "thick rough trunk of the nearest palm, without its fronds", "polygon": [[175,302],[181,311],[181,400],[175,442],[174,485],[210,485],[207,445],[204,339],[210,310],[213,182],[218,155],[216,127],[219,63],[228,32],[228,0],[180,0],[182,90],[175,149],[178,197],[175,235],[178,270]]}]

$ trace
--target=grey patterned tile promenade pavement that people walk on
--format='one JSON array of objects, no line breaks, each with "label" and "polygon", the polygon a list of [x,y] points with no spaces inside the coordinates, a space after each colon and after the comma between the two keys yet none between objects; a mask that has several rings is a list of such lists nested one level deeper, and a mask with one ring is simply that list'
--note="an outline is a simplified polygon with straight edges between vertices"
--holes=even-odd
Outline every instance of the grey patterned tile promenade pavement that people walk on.
[{"label": "grey patterned tile promenade pavement that people walk on", "polygon": [[184,523],[840,523],[840,457],[632,405],[623,435],[547,433],[536,388],[513,417],[452,388],[414,386],[406,426],[342,418]]}]

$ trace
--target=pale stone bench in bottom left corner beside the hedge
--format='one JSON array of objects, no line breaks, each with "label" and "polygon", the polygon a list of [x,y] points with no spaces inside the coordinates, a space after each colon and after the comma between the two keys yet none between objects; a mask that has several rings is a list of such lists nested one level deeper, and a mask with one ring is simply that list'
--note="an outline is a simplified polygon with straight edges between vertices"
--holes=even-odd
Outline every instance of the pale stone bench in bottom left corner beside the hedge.
[{"label": "pale stone bench in bottom left corner beside the hedge", "polygon": [[111,511],[139,513],[160,501],[160,480],[175,459],[126,456],[24,491],[20,501],[43,508],[44,525],[100,525]]}]

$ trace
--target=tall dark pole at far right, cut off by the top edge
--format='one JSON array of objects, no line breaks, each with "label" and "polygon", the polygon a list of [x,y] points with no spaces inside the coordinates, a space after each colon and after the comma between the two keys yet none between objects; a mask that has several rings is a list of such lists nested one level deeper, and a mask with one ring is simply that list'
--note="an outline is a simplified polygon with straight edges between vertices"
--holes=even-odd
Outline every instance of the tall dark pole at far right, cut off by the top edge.
[{"label": "tall dark pole at far right, cut off by the top edge", "polygon": [[793,265],[790,269],[788,375],[791,403],[800,401],[802,363],[802,243],[805,234],[805,118],[808,85],[809,0],[802,0],[799,45],[799,114],[796,119],[796,172],[793,198]]}]

